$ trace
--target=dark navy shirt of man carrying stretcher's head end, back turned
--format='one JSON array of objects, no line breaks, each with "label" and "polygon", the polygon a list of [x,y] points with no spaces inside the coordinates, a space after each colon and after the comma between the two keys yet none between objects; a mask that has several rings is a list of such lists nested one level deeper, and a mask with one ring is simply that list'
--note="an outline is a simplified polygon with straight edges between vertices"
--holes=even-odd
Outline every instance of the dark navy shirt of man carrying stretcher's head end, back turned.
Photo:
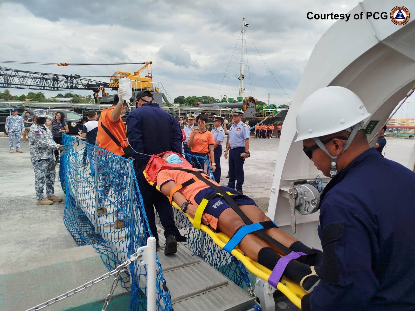
[{"label": "dark navy shirt of man carrying stretcher's head end, back turned", "polygon": [[[139,153],[182,153],[182,133],[178,121],[153,102],[145,103],[128,114],[127,138],[130,146]],[[150,156],[139,153],[133,151],[132,156],[141,167],[147,164]]]}]

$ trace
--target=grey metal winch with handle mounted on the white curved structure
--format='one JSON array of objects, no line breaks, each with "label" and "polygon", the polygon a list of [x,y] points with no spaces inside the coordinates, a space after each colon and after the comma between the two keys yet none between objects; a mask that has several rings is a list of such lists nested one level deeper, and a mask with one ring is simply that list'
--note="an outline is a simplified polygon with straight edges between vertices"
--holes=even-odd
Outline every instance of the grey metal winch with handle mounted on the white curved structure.
[{"label": "grey metal winch with handle mounted on the white curved structure", "polygon": [[288,199],[291,209],[291,231],[296,232],[295,212],[301,215],[310,215],[315,213],[320,204],[320,192],[318,188],[323,189],[322,182],[311,184],[307,180],[299,182],[290,182]]}]

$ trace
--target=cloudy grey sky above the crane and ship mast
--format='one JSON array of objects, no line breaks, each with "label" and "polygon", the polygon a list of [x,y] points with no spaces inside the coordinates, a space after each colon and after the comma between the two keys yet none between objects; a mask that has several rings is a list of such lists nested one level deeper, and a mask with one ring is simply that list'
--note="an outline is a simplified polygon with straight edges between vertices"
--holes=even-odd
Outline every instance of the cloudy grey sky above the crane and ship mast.
[{"label": "cloudy grey sky above the crane and ship mast", "polygon": [[[153,61],[153,80],[161,81],[171,98],[180,95],[222,98],[222,94],[237,97],[241,60],[238,37],[245,17],[249,23],[247,33],[292,98],[313,47],[333,23],[308,20],[307,12],[344,13],[356,6],[358,0],[297,0],[295,3],[291,10],[284,2],[274,0],[0,0],[0,24],[2,29],[7,29],[2,34],[1,59],[48,63]],[[266,102],[270,93],[271,103],[287,102],[287,96],[248,36],[246,47],[249,68],[245,67],[245,95]],[[7,64],[7,67],[110,75],[117,70],[134,71],[140,65]],[[12,90],[13,95],[27,92]],[[45,93],[47,97],[57,94]]]}]

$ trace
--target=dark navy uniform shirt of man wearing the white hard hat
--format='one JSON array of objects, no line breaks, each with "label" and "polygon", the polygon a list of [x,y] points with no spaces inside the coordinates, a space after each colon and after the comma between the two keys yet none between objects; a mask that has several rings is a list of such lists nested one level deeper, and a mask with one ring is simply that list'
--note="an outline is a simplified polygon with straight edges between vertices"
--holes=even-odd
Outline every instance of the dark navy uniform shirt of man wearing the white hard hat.
[{"label": "dark navy uniform shirt of man wearing the white hard hat", "polygon": [[321,281],[307,297],[312,311],[415,310],[414,185],[413,172],[375,148],[329,182],[320,203]]}]

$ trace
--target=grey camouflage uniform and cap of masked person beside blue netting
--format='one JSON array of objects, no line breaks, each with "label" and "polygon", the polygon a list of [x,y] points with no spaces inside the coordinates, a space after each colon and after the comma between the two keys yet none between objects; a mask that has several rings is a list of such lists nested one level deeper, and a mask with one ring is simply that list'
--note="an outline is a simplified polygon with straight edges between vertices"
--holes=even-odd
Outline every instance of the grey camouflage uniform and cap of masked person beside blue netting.
[{"label": "grey camouflage uniform and cap of masked person beside blue netting", "polygon": [[[46,117],[45,109],[34,109],[37,117]],[[30,160],[34,166],[34,188],[38,200],[44,199],[43,187],[46,183],[46,196],[54,195],[55,170],[51,170],[54,165],[53,151],[59,148],[55,143],[49,126],[39,125],[36,122],[27,131],[29,137]]]}]

